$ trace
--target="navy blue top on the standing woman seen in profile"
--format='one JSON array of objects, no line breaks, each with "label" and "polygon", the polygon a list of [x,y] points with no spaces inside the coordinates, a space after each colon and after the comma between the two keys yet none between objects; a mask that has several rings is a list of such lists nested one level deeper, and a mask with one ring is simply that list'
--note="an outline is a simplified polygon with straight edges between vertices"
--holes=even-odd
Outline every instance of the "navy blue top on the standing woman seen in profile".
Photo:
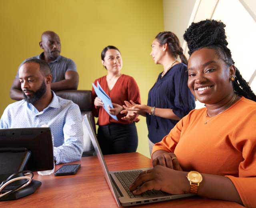
[{"label": "navy blue top on the standing woman seen in profile", "polygon": [[[185,64],[174,65],[156,83],[148,93],[148,106],[170,108],[179,118],[186,116],[196,107],[195,99],[188,89],[188,72]],[[164,136],[178,123],[177,120],[150,116],[146,114],[148,138],[153,143],[160,142]]]}]

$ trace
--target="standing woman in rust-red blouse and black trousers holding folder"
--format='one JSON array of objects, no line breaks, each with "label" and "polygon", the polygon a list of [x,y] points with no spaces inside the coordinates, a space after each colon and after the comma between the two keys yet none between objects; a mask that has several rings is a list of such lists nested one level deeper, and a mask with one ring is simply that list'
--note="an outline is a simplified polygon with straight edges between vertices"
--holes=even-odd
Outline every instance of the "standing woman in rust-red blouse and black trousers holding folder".
[{"label": "standing woman in rust-red blouse and black trousers holding folder", "polygon": [[130,121],[122,120],[124,114],[120,114],[124,108],[125,100],[135,100],[140,104],[139,88],[131,76],[121,74],[122,56],[115,46],[107,46],[101,52],[102,64],[107,70],[107,75],[94,81],[97,86],[99,82],[102,89],[112,100],[112,109],[108,108],[110,114],[116,115],[114,120],[104,110],[103,102],[97,97],[92,88],[92,99],[94,100],[93,114],[98,117],[98,142],[103,154],[118,154],[124,152],[136,152],[138,146],[138,135],[135,122],[138,118]]}]

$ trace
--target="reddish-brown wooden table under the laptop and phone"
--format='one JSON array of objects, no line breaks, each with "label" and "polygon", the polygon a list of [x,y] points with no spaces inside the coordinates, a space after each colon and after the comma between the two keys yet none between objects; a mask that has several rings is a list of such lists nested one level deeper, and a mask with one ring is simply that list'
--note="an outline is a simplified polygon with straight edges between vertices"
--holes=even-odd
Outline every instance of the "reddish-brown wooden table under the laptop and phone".
[{"label": "reddish-brown wooden table under the laptop and phone", "polygon": [[[152,166],[151,160],[139,153],[126,153],[105,156],[109,170],[126,170],[132,168],[146,168]],[[40,176],[35,174],[34,179],[40,180],[42,186],[38,190],[24,198],[0,202],[1,208],[117,208],[117,204],[108,188],[103,176],[98,158],[84,157],[80,161],[81,168],[72,176]],[[60,168],[57,165],[55,170]],[[134,206],[139,208],[241,208],[243,206],[235,202],[210,200],[199,197],[183,198],[168,202],[159,202]]]}]

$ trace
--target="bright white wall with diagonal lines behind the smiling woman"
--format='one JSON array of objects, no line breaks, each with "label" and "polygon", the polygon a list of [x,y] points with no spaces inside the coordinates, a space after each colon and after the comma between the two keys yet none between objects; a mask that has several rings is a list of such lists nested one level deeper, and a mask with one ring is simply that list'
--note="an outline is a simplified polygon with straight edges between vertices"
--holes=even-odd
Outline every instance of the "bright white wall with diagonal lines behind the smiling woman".
[{"label": "bright white wall with diagonal lines behind the smiling woman", "polygon": [[[174,32],[183,44],[183,34],[191,22],[205,19],[222,20],[226,24],[228,47],[242,76],[248,82],[256,69],[256,0],[163,0],[164,29]],[[186,43],[183,45],[188,57]],[[251,83],[256,92],[256,78]],[[199,102],[196,108],[203,107]]]}]

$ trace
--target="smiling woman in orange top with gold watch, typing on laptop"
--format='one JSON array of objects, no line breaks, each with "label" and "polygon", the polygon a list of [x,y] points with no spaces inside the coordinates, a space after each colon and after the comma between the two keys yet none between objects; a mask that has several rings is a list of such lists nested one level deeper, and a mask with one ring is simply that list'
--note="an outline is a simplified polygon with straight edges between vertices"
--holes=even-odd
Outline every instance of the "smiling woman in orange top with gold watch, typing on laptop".
[{"label": "smiling woman in orange top with gold watch, typing on laptop", "polygon": [[132,184],[135,194],[191,192],[256,207],[256,96],[234,66],[224,27],[204,20],[186,30],[188,87],[206,108],[154,145],[154,168]]}]

